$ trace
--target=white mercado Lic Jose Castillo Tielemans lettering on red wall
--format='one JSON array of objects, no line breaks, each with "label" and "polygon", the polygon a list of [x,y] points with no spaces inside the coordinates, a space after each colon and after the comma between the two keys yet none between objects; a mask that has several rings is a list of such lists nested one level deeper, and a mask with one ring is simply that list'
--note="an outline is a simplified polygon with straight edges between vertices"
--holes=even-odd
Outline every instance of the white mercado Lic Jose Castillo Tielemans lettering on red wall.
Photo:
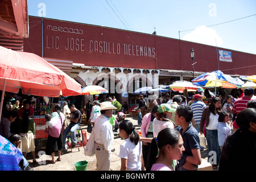
[{"label": "white mercado Lic Jose Castillo Tielemans lettering on red wall", "polygon": [[[85,51],[90,53],[108,53],[113,55],[156,57],[155,47],[87,39],[85,32],[79,28],[47,25],[46,29],[48,31],[64,32],[68,34],[68,36],[65,36],[65,38],[60,36],[60,34],[57,36],[45,34],[44,36],[46,38],[47,49],[63,49],[67,51]],[[77,38],[77,35],[79,35],[80,38]]]}]

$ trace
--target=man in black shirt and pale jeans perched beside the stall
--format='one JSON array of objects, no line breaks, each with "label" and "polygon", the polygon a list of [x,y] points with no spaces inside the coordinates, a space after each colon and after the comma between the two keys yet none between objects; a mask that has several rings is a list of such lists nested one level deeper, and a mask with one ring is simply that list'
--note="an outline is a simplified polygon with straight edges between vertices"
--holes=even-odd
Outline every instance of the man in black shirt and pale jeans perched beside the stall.
[{"label": "man in black shirt and pale jeans perched beside the stall", "polygon": [[71,133],[71,147],[74,148],[77,143],[76,130],[79,129],[82,123],[82,115],[80,110],[76,109],[75,105],[72,103],[69,104],[68,107],[72,113],[72,117],[67,117],[70,119],[71,123],[67,126],[63,133],[63,148],[65,148],[65,141],[69,132]]}]

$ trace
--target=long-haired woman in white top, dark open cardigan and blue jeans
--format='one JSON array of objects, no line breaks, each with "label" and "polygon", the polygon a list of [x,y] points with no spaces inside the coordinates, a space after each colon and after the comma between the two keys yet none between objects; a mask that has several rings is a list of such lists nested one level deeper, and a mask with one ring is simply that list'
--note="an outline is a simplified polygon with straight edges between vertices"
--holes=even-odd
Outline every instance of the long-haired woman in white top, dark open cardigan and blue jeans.
[{"label": "long-haired woman in white top, dark open cardigan and blue jeans", "polygon": [[220,160],[221,150],[218,146],[218,116],[221,112],[221,100],[219,97],[213,97],[209,107],[203,111],[200,122],[200,134],[203,133],[205,122],[207,146],[208,146],[208,162],[212,164],[213,169],[217,169]]}]

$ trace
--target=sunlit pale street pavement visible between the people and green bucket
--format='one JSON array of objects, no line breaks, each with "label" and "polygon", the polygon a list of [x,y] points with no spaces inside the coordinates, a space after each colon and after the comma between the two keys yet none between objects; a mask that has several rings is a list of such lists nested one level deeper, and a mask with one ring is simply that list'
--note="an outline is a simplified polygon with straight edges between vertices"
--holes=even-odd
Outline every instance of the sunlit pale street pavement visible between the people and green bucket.
[{"label": "sunlit pale street pavement visible between the people and green bucket", "polygon": [[[131,115],[127,115],[126,117],[130,121],[133,122],[137,130],[140,130],[140,127],[138,127],[137,118]],[[82,129],[87,129],[86,125],[81,126]],[[90,134],[86,133],[87,139],[89,139]],[[115,151],[112,152],[112,161],[110,164],[110,170],[112,171],[119,171],[121,167],[121,160],[118,157],[119,154],[119,146],[123,142],[123,139],[121,139],[119,136],[114,137],[114,143],[112,145],[112,148],[115,148]],[[40,154],[40,152],[44,151],[37,151],[36,154]],[[207,150],[201,152],[203,163],[201,165],[205,165],[207,161],[207,156],[205,155],[207,153]],[[55,154],[55,160],[57,159],[57,152]],[[28,162],[31,163],[30,166],[34,168],[35,171],[75,171],[75,163],[79,162],[81,160],[86,160],[88,162],[88,171],[96,171],[96,156],[85,156],[84,155],[84,148],[73,148],[72,152],[71,149],[68,148],[68,153],[61,155],[61,161],[56,162],[55,164],[49,164],[49,161],[51,160],[51,156],[49,155],[39,155],[39,158],[37,159],[39,164],[32,164],[32,158],[31,155],[28,154]]]}]

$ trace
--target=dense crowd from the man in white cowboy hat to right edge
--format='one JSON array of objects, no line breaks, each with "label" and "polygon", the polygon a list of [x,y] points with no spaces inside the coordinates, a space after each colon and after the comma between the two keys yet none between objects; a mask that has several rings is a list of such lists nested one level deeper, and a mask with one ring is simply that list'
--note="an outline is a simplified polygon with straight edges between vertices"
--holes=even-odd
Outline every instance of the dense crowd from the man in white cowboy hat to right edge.
[{"label": "dense crowd from the man in white cowboy hat to right edge", "polygon": [[[207,139],[208,162],[213,169],[236,169],[237,166],[233,164],[237,159],[241,159],[241,164],[246,165],[242,170],[255,169],[256,111],[246,109],[255,108],[256,101],[252,99],[253,96],[252,88],[245,89],[244,95],[237,100],[232,96],[212,96],[207,104],[202,101],[203,96],[199,93],[193,94],[188,104],[180,94],[172,99],[167,95],[162,102],[160,98],[156,98],[148,103],[142,95],[139,96],[141,99],[137,109],[137,127],[141,126],[142,136],[139,137],[131,121],[123,117],[118,120],[119,135],[125,139],[120,146],[120,169],[197,171],[202,160],[200,151],[204,150],[200,146],[199,135],[203,134]],[[241,102],[246,102],[243,109]],[[113,151],[113,124],[110,118],[113,117],[114,106],[111,102],[104,102],[104,105],[100,103],[100,116],[94,119],[97,131],[94,134],[94,150],[97,170],[100,171],[110,169]],[[240,108],[241,114],[236,113],[237,108]],[[247,117],[241,117],[242,113],[248,114]],[[237,130],[234,127],[236,123]],[[246,139],[245,143],[241,142],[243,139]],[[246,148],[245,145],[249,147]],[[239,146],[242,148],[236,150]],[[243,160],[246,152],[250,154],[250,160]]]}]

